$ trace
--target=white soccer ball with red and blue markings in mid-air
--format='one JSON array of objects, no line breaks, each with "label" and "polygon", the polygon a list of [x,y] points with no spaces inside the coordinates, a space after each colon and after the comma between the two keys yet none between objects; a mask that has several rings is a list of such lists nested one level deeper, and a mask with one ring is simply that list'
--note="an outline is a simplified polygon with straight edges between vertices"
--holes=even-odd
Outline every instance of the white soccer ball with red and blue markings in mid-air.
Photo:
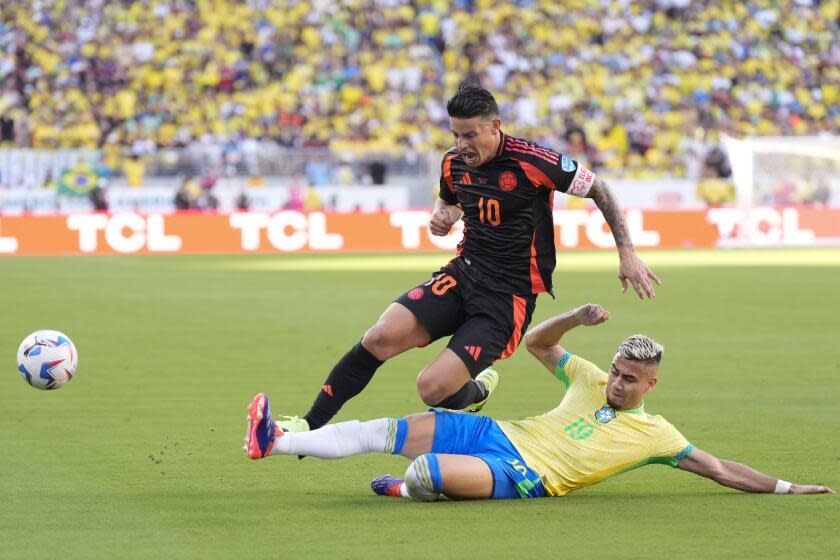
[{"label": "white soccer ball with red and blue markings in mid-air", "polygon": [[18,348],[18,371],[36,389],[64,387],[78,365],[76,347],[58,331],[34,332]]}]

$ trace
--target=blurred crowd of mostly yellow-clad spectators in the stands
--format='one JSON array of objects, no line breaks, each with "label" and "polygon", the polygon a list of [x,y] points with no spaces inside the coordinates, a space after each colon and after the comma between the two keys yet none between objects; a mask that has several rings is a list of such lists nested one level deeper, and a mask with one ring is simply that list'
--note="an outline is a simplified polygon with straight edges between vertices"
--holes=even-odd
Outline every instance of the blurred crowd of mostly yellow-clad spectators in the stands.
[{"label": "blurred crowd of mostly yellow-clad spectators in the stands", "polygon": [[505,129],[624,176],[721,133],[840,134],[837,0],[11,0],[4,146],[424,152],[465,76]]}]

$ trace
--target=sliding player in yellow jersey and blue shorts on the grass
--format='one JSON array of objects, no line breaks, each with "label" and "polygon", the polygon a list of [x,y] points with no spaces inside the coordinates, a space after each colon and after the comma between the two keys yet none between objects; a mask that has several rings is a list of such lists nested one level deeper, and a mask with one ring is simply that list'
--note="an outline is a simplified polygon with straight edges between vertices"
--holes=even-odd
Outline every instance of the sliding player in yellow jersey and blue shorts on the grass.
[{"label": "sliding player in yellow jersey and blue shorts on the grass", "polygon": [[567,352],[561,337],[579,325],[610,317],[587,304],[541,323],[525,336],[528,350],[565,386],[554,410],[516,421],[495,421],[435,409],[407,418],[341,422],[312,432],[283,432],[268,396],[249,407],[245,450],[268,455],[337,459],[393,453],[412,460],[405,476],[371,482],[377,494],[432,501],[450,498],[563,496],[648,464],[665,464],[745,492],[820,494],[828,486],[792,484],[746,465],[718,459],[689,443],[661,416],[645,411],[657,383],[662,346],[643,335],[621,343],[609,373]]}]

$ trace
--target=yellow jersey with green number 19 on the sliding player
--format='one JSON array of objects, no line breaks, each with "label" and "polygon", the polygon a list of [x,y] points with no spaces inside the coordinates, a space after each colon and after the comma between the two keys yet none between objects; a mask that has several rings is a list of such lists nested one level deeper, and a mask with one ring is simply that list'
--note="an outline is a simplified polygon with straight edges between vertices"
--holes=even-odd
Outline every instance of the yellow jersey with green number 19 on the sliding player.
[{"label": "yellow jersey with green number 19 on the sliding player", "polygon": [[644,410],[615,410],[607,404],[607,374],[566,353],[555,375],[566,386],[560,405],[499,427],[539,473],[546,495],[572,490],[648,464],[676,467],[694,448],[662,416]]}]

